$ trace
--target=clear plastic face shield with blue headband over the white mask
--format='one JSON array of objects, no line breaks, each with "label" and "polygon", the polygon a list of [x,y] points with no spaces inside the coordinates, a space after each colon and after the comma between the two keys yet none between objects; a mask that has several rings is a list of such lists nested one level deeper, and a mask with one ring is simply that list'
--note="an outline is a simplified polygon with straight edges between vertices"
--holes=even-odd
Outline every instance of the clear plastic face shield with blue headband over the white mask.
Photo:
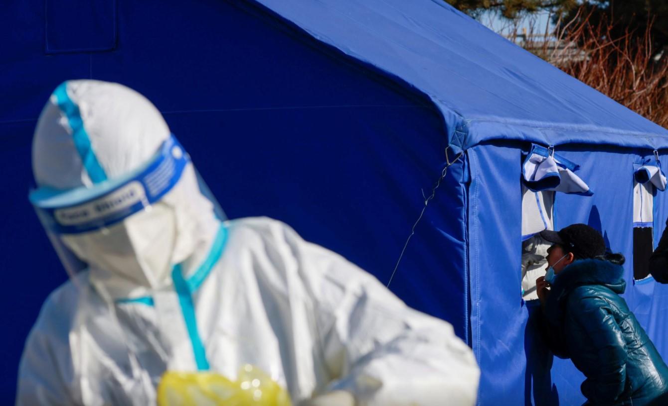
[{"label": "clear plastic face shield with blue headband over the white mask", "polygon": [[[29,198],[73,281],[85,269],[101,268],[121,273],[130,285],[157,287],[159,273],[188,254],[175,252],[189,248],[178,247],[176,234],[188,228],[180,223],[225,220],[174,136],[125,177],[65,192],[40,188]],[[142,275],[141,268],[158,275]]]}]

